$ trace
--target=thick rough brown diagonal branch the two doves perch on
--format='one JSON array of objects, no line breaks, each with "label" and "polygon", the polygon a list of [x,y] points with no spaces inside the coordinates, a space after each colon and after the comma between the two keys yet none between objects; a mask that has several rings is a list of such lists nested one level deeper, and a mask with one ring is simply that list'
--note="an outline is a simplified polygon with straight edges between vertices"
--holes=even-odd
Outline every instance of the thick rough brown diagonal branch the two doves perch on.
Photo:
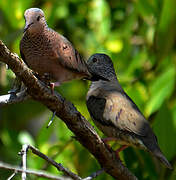
[{"label": "thick rough brown diagonal branch the two doves perch on", "polygon": [[27,87],[28,94],[41,102],[61,118],[76,135],[76,139],[98,160],[101,167],[112,177],[119,180],[137,178],[116,158],[98,136],[90,123],[77,111],[73,104],[60,94],[51,93],[50,89],[39,81],[25,63],[0,41],[0,61],[6,63]]}]

